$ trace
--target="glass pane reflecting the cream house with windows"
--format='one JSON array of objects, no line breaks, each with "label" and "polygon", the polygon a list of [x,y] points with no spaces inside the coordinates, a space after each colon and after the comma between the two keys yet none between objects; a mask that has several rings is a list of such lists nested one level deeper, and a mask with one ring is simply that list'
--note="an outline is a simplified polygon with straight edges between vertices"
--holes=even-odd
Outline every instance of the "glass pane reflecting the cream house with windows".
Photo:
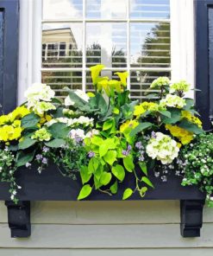
[{"label": "glass pane reflecting the cream house with windows", "polygon": [[42,67],[82,67],[82,24],[45,23]]}]

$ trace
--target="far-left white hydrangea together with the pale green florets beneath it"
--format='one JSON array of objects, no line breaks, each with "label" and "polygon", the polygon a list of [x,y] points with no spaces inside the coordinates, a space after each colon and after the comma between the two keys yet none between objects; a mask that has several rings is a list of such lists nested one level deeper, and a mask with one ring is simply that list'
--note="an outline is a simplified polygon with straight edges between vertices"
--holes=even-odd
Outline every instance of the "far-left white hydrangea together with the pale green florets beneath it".
[{"label": "far-left white hydrangea together with the pale green florets beneath it", "polygon": [[54,97],[54,91],[50,86],[46,84],[34,83],[33,86],[29,87],[24,93],[24,96],[28,99],[28,109],[33,110],[35,113],[42,115],[48,110],[54,110],[50,101]]}]

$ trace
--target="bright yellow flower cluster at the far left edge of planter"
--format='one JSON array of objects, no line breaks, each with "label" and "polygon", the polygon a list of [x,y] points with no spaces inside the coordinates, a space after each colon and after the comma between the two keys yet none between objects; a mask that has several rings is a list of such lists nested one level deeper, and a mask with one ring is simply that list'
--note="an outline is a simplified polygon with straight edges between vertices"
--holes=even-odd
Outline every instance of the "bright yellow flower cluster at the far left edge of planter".
[{"label": "bright yellow flower cluster at the far left edge of planter", "polygon": [[0,141],[9,142],[22,136],[21,119],[28,115],[25,106],[18,106],[13,112],[0,117]]}]

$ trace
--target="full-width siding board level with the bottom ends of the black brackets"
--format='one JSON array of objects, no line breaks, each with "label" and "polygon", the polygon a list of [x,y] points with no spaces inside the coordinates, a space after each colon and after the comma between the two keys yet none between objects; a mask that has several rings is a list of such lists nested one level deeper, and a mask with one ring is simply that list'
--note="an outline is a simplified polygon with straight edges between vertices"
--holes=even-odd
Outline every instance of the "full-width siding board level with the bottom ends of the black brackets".
[{"label": "full-width siding board level with the bottom ends of the black brackets", "polygon": [[30,239],[10,239],[0,225],[0,247],[26,248],[194,248],[213,249],[213,224],[204,224],[200,238],[182,238],[178,224],[47,225],[34,224]]}]

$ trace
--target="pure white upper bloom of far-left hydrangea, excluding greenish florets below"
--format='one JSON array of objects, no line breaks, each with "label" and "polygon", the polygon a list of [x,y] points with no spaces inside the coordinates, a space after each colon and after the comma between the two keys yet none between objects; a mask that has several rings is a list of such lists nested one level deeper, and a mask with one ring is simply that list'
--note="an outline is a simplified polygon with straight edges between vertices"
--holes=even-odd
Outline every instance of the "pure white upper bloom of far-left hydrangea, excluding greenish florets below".
[{"label": "pure white upper bloom of far-left hydrangea, excluding greenish florets below", "polygon": [[50,86],[41,83],[34,83],[33,86],[28,87],[24,93],[24,97],[28,99],[28,107],[34,106],[37,101],[51,101],[55,93]]}]

